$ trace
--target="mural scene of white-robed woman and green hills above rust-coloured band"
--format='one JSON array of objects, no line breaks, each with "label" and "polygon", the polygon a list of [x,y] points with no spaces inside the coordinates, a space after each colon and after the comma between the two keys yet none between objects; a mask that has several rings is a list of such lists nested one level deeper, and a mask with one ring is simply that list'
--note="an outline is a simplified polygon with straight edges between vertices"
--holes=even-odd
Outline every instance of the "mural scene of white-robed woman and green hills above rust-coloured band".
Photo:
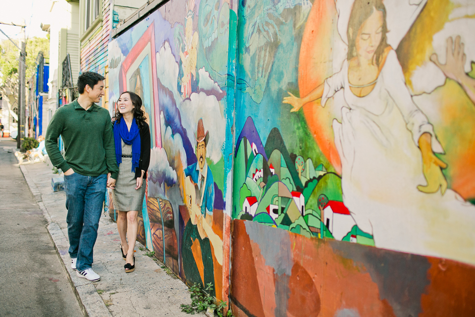
[{"label": "mural scene of white-robed woman and green hills above rust-coloured band", "polygon": [[233,218],[475,264],[464,5],[240,6]]}]

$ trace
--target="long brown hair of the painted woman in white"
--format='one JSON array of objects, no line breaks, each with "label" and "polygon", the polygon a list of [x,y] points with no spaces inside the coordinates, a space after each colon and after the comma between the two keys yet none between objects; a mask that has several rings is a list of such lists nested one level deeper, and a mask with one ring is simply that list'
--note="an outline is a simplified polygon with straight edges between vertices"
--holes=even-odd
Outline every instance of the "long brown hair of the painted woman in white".
[{"label": "long brown hair of the painted woman in white", "polygon": [[[386,24],[386,8],[384,7],[382,0],[355,0],[353,3],[350,19],[348,21],[348,29],[346,31],[346,36],[348,37],[348,60],[356,56],[356,37],[358,36],[358,31],[361,25],[371,16],[371,14],[373,14],[374,9],[382,12],[381,41],[375,52],[375,60],[373,60],[373,63],[376,62],[378,66],[380,65],[382,53],[388,46],[386,42],[386,33],[388,32]],[[350,32],[350,29],[352,32]]]}]

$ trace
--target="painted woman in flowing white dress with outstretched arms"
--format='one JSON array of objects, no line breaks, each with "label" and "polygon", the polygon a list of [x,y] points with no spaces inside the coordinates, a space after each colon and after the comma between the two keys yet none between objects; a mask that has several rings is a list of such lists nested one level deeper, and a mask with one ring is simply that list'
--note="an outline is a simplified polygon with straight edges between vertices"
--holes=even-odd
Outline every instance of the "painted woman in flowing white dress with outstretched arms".
[{"label": "painted woman in flowing white dress with outstretched arms", "polygon": [[[395,51],[386,43],[381,0],[355,0],[341,70],[310,94],[289,93],[290,111],[343,89],[333,120],[343,202],[380,248],[475,264],[475,206],[447,189],[447,165],[432,125],[414,104]],[[424,185],[426,184],[426,185]]]}]

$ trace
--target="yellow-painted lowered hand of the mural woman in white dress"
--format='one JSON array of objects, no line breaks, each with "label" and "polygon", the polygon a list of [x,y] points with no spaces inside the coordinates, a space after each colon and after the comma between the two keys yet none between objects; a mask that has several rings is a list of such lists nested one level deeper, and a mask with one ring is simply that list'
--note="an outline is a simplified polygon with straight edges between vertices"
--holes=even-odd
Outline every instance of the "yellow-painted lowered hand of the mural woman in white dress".
[{"label": "yellow-painted lowered hand of the mural woman in white dress", "polygon": [[442,168],[447,168],[447,164],[437,158],[432,152],[427,155],[423,155],[423,171],[426,177],[427,185],[417,186],[423,193],[435,193],[439,190],[441,194],[445,194],[447,190],[447,180],[442,173]]}]

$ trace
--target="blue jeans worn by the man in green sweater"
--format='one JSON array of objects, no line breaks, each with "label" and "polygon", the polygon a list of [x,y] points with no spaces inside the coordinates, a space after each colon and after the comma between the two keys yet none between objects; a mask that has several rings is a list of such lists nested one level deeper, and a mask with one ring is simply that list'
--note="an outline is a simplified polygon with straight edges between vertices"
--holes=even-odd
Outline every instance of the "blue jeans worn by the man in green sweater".
[{"label": "blue jeans worn by the man in green sweater", "polygon": [[68,215],[69,256],[83,271],[93,264],[93,248],[106,192],[107,175],[64,175]]}]

